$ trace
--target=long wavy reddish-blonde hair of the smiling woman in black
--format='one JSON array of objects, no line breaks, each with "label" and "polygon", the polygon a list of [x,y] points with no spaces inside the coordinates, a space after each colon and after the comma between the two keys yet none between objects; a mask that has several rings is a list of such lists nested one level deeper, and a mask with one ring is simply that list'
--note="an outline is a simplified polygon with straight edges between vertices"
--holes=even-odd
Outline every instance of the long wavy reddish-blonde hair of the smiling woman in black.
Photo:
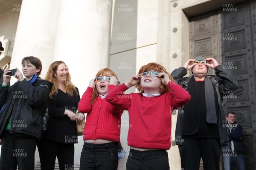
[{"label": "long wavy reddish-blonde hair of the smiling woman in black", "polygon": [[[58,94],[58,81],[55,78],[55,74],[56,74],[56,71],[58,69],[58,66],[61,65],[61,64],[66,65],[63,61],[52,62],[52,64],[50,65],[50,67],[48,69],[46,77],[45,77],[45,79],[47,81],[49,81],[49,82],[51,82],[53,84],[52,90],[50,91],[50,94],[49,94],[49,97],[51,99],[53,98],[52,97],[53,95]],[[67,67],[67,70],[68,70],[68,67]],[[76,91],[76,87],[72,84],[72,82],[71,82],[71,75],[69,73],[67,74],[67,79],[66,79],[66,82],[65,82],[65,90],[67,91],[67,94],[69,96],[73,96],[74,95],[73,92]],[[76,91],[76,94],[78,95],[77,91]]]}]

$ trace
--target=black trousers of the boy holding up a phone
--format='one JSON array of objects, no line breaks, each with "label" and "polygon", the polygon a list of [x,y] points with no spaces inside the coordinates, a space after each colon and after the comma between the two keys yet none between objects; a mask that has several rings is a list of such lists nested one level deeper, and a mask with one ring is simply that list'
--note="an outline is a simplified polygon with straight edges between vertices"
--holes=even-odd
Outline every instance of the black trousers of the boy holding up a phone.
[{"label": "black trousers of the boy holding up a phone", "polygon": [[34,170],[35,148],[37,139],[35,137],[16,136],[3,132],[0,170]]}]

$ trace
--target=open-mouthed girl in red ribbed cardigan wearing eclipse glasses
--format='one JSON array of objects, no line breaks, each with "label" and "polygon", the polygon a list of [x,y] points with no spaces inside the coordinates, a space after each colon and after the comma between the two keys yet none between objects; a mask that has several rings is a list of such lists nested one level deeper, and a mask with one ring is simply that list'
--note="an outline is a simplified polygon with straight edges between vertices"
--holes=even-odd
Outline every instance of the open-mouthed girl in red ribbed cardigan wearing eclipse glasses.
[{"label": "open-mouthed girl in red ribbed cardigan wearing eclipse glasses", "polygon": [[[109,84],[111,87],[108,87]],[[94,77],[84,92],[78,109],[88,113],[84,127],[84,147],[80,170],[116,170],[118,143],[123,110],[109,104],[105,97],[118,84],[116,74],[104,68]]]}]

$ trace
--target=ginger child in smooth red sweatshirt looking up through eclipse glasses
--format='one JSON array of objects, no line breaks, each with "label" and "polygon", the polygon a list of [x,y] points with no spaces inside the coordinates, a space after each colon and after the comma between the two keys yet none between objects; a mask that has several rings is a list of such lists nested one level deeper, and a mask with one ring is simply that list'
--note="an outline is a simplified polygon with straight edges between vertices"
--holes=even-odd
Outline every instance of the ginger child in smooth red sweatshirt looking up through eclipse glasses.
[{"label": "ginger child in smooth red sweatshirt looking up through eclipse glasses", "polygon": [[[129,112],[127,170],[169,170],[166,150],[171,147],[172,110],[190,100],[189,93],[171,79],[162,65],[148,63],[106,97]],[[134,85],[140,93],[124,94]]]}]

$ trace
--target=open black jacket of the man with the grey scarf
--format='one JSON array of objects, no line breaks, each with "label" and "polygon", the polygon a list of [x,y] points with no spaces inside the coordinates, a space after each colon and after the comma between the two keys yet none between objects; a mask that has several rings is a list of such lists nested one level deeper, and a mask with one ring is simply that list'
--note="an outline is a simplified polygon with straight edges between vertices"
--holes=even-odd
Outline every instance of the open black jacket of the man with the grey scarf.
[{"label": "open black jacket of the man with the grey scarf", "polygon": [[[219,131],[219,138],[220,138],[220,144],[221,146],[226,146],[227,145],[227,128],[225,125],[223,125],[223,122],[226,121],[225,118],[225,112],[222,106],[222,92],[224,91],[234,91],[237,88],[237,81],[236,79],[230,75],[227,74],[226,71],[224,71],[221,67],[221,65],[218,65],[215,67],[215,74],[214,76],[208,76],[209,79],[212,81],[212,83],[215,86],[215,89],[217,91],[217,96],[218,96],[218,105],[219,105],[219,118],[218,118],[218,131]],[[172,77],[174,77],[175,80],[178,84],[180,84],[185,90],[188,87],[189,80],[192,76],[190,77],[184,77],[187,74],[186,68],[180,67],[175,69],[172,72]],[[191,99],[193,100],[193,99]],[[179,113],[183,113],[183,108],[180,109]],[[189,114],[189,113],[184,113],[184,114]],[[183,114],[178,114],[177,116],[177,125],[176,125],[176,131],[175,131],[175,136],[177,136],[178,140],[176,139],[176,144],[177,145],[182,145],[183,144],[183,138],[182,138],[182,124],[183,124]],[[195,122],[190,122],[191,124]],[[189,125],[186,125],[189,126]]]}]

